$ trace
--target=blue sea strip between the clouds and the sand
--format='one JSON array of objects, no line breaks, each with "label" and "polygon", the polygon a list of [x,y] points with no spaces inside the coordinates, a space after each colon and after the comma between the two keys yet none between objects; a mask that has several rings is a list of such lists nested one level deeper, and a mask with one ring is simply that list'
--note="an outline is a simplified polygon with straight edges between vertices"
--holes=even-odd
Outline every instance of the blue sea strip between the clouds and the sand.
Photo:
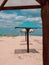
[{"label": "blue sea strip between the clouds and the sand", "polygon": [[[24,32],[21,32],[21,29],[14,28],[0,28],[0,34],[3,35],[25,35]],[[33,36],[42,36],[42,29],[34,30],[34,32],[29,33]]]}]

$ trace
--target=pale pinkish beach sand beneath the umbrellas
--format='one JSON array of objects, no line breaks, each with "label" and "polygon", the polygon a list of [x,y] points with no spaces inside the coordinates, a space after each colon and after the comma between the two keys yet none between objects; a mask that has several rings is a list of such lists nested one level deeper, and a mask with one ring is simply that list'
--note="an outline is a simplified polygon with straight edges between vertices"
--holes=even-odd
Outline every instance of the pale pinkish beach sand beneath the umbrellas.
[{"label": "pale pinkish beach sand beneath the umbrellas", "polygon": [[43,65],[42,36],[30,36],[30,53],[24,36],[0,37],[0,65]]}]

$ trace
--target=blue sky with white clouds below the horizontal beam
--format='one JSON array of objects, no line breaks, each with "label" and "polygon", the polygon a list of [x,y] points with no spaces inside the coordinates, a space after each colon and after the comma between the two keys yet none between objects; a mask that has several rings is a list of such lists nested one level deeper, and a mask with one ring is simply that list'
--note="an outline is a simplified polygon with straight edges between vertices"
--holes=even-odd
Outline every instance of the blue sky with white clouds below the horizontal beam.
[{"label": "blue sky with white clouds below the horizontal beam", "polygon": [[40,9],[0,11],[0,28],[13,28],[24,21],[31,21],[42,25],[40,11]]}]

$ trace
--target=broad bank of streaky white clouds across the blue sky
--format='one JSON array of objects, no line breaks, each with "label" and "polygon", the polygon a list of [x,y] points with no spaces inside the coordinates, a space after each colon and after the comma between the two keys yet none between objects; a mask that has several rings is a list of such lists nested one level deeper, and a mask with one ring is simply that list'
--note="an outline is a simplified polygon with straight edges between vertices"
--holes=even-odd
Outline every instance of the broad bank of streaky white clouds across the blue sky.
[{"label": "broad bank of streaky white clouds across the blue sky", "polygon": [[[37,10],[27,10],[27,12],[36,12]],[[25,11],[24,11],[25,12]],[[23,12],[23,13],[24,13]],[[18,22],[19,21],[19,22]],[[20,22],[21,21],[21,22]],[[22,21],[41,21],[41,17],[28,17],[23,15],[17,15],[17,13],[4,13],[0,12],[0,27],[15,27],[22,23]],[[40,22],[41,23],[41,22]]]}]

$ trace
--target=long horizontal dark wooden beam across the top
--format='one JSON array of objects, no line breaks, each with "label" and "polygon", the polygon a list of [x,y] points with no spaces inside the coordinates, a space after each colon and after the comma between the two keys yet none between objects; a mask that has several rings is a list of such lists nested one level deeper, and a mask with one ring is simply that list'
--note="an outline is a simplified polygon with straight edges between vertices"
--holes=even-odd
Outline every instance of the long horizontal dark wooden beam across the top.
[{"label": "long horizontal dark wooden beam across the top", "polygon": [[0,10],[16,10],[16,9],[35,9],[41,8],[40,5],[28,5],[28,6],[8,6],[8,7],[0,7]]}]

